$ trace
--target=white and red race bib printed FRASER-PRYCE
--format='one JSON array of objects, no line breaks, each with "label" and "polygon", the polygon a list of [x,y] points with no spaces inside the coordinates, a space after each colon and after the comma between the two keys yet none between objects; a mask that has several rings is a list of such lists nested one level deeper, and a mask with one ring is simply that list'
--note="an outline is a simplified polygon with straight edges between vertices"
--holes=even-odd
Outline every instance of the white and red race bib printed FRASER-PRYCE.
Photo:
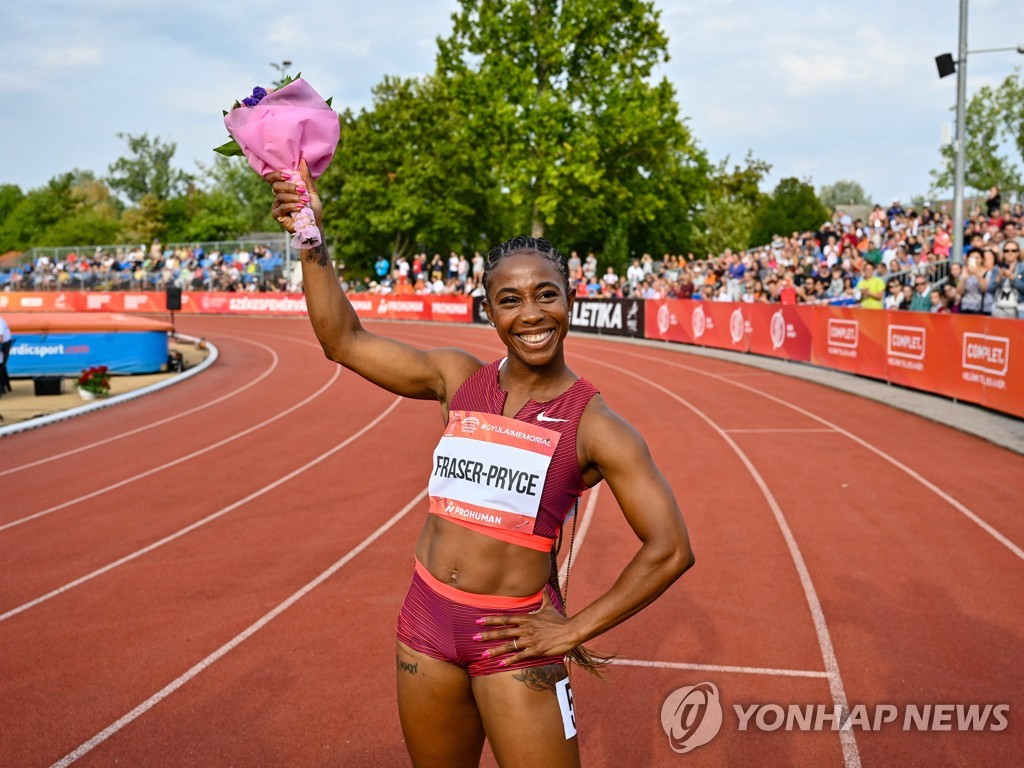
[{"label": "white and red race bib printed FRASER-PRYCE", "polygon": [[532,534],[561,435],[495,414],[453,411],[434,450],[430,511]]}]

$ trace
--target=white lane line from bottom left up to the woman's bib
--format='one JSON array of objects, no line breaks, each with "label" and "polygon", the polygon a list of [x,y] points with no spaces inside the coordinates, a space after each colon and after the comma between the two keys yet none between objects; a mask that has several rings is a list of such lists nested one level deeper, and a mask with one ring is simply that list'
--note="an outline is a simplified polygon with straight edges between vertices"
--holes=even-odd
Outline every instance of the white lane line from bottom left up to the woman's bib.
[{"label": "white lane line from bottom left up to the woman's bib", "polygon": [[[393,406],[392,406],[392,408],[393,408]],[[246,640],[248,640],[250,637],[252,637],[253,635],[255,635],[261,629],[263,629],[264,627],[266,627],[266,625],[268,625],[270,622],[272,622],[279,615],[281,615],[286,610],[288,610],[290,607],[292,607],[292,605],[294,605],[295,603],[297,603],[299,600],[301,600],[303,597],[305,597],[306,595],[308,595],[310,592],[312,592],[314,589],[316,589],[319,585],[322,585],[324,582],[326,582],[332,575],[334,575],[335,573],[337,573],[344,565],[346,565],[352,558],[354,558],[356,555],[358,555],[360,552],[362,552],[367,547],[369,547],[371,544],[373,544],[378,539],[380,539],[392,526],[394,526],[394,524],[396,522],[398,522],[402,517],[404,517],[407,514],[409,514],[409,512],[412,509],[414,509],[416,507],[416,505],[418,505],[421,501],[423,501],[423,499],[426,497],[426,495],[427,495],[427,489],[424,488],[423,490],[421,490],[416,496],[415,499],[413,499],[413,501],[411,501],[409,504],[407,504],[404,507],[402,507],[398,512],[396,512],[394,514],[394,516],[391,517],[390,520],[388,520],[387,522],[385,522],[383,525],[381,525],[379,528],[377,528],[377,530],[375,530],[373,534],[371,534],[366,539],[364,539],[356,547],[354,547],[351,550],[349,550],[348,553],[344,557],[342,557],[340,560],[336,561],[333,565],[331,565],[331,567],[329,567],[327,570],[325,570],[318,577],[316,577],[311,582],[309,582],[308,584],[306,584],[298,592],[296,592],[295,594],[293,594],[291,597],[289,597],[284,602],[279,603],[278,606],[274,607],[271,611],[269,611],[268,613],[265,613],[257,622],[255,622],[254,624],[251,624],[244,631],[242,631],[241,633],[239,633],[238,635],[236,635],[233,638],[231,638],[230,640],[228,640],[226,643],[224,643],[223,645],[221,645],[219,648],[217,648],[217,650],[215,650],[213,653],[211,653],[210,655],[208,655],[202,662],[200,662],[195,667],[193,667],[191,669],[189,669],[183,675],[181,675],[177,679],[173,680],[172,682],[168,683],[166,686],[164,686],[159,691],[157,691],[156,693],[154,693],[152,696],[150,696],[147,699],[145,699],[142,703],[140,703],[134,710],[132,710],[131,712],[129,712],[127,715],[124,715],[123,717],[119,718],[116,722],[114,722],[111,725],[109,725],[105,728],[103,728],[103,730],[99,731],[99,733],[97,733],[95,736],[93,736],[92,738],[90,738],[85,743],[81,744],[74,752],[69,753],[68,755],[66,755],[60,760],[58,760],[57,762],[53,763],[53,765],[50,768],[65,768],[66,766],[69,766],[72,763],[76,762],[79,758],[82,758],[85,755],[87,755],[88,753],[92,752],[92,750],[94,750],[99,744],[103,743],[103,741],[105,741],[106,739],[109,739],[111,736],[113,736],[115,733],[117,733],[118,731],[120,731],[126,725],[130,724],[134,720],[137,720],[139,717],[141,717],[142,715],[144,715],[146,712],[148,712],[154,707],[156,707],[158,703],[160,703],[165,698],[167,698],[169,695],[171,695],[178,688],[180,688],[181,686],[185,685],[185,683],[187,683],[193,678],[195,678],[197,675],[199,675],[201,672],[203,672],[205,669],[207,669],[208,667],[210,667],[210,665],[212,665],[214,662],[216,662],[217,659],[221,658],[222,656],[224,656],[225,654],[227,654],[229,651],[233,650],[239,645],[241,645],[243,642],[245,642]]]}]

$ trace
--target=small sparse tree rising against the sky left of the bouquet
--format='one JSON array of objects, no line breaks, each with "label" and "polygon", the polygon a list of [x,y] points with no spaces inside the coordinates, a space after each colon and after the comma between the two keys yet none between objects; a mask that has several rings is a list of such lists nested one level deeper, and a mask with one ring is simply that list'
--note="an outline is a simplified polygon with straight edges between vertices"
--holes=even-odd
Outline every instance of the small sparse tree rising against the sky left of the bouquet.
[{"label": "small sparse tree rising against the sky left of the bouquet", "polygon": [[191,176],[171,165],[177,144],[165,144],[159,137],[150,138],[146,133],[117,135],[128,143],[129,156],[119,158],[110,166],[106,183],[114,191],[132,205],[138,205],[147,195],[166,201],[187,190]]}]

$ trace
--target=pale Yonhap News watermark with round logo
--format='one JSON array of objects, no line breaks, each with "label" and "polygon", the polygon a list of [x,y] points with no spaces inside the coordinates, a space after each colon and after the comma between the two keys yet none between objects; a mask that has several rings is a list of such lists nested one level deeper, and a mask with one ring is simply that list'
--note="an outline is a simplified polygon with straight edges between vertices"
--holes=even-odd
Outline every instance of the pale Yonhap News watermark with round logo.
[{"label": "pale Yonhap News watermark with round logo", "polygon": [[662,728],[673,752],[685,754],[723,728],[736,731],[1005,731],[1009,703],[748,702],[722,706],[714,683],[677,688],[662,705]]}]

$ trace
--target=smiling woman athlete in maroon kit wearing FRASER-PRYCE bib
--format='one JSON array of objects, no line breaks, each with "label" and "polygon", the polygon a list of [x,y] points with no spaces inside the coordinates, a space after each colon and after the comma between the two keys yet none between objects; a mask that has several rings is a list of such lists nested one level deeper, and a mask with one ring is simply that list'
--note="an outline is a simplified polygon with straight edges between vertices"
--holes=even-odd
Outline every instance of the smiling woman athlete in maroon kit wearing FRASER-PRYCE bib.
[{"label": "smiling woman athlete in maroon kit wearing FRASER-PRYCE bib", "polygon": [[[316,188],[267,175],[271,214],[292,230]],[[436,399],[430,506],[398,617],[398,713],[414,765],[471,766],[484,738],[502,765],[579,765],[569,662],[651,603],[693,564],[679,507],[643,438],[566,365],[575,298],[543,239],[495,248],[484,308],[505,345],[489,364],[366,331],[326,245],[302,252],[313,331],[327,356],[388,391]],[[567,615],[555,557],[579,497],[605,480],[640,546],[614,585]],[[528,738],[524,738],[528,734]]]}]

